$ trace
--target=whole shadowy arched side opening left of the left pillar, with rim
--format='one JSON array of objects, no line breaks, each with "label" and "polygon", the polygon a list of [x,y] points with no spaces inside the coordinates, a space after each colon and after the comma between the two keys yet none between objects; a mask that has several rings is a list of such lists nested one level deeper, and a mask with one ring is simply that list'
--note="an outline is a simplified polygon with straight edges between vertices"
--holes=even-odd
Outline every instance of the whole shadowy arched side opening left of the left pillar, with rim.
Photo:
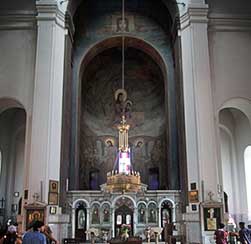
[{"label": "whole shadowy arched side opening left of the left pillar, with rim", "polygon": [[7,99],[0,100],[0,111],[0,222],[4,223],[7,219],[16,221],[24,192],[26,112]]}]

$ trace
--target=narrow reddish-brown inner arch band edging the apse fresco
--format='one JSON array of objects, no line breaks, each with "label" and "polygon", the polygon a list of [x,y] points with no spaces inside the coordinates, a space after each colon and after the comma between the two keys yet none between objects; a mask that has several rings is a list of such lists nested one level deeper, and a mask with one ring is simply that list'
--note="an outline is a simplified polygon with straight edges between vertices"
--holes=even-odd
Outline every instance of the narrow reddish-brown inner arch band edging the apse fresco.
[{"label": "narrow reddish-brown inner arch band edging the apse fresco", "polygon": [[[103,38],[102,40],[98,40],[95,43],[92,44],[81,56],[80,61],[76,65],[76,72],[74,72],[73,76],[76,75],[76,88],[74,88],[75,92],[74,96],[72,96],[72,102],[74,106],[75,115],[72,117],[72,121],[74,123],[74,126],[72,127],[72,135],[75,135],[75,137],[72,137],[72,149],[71,149],[71,156],[72,157],[80,157],[80,145],[81,143],[77,143],[81,141],[81,133],[78,133],[80,131],[81,123],[82,123],[82,86],[83,86],[83,76],[85,75],[86,69],[88,69],[88,65],[97,55],[101,54],[103,51],[114,48],[114,47],[120,47],[122,45],[121,43],[122,38],[121,36],[111,36]],[[168,65],[167,65],[167,59],[163,56],[164,54],[160,52],[155,46],[153,46],[152,43],[139,38],[135,37],[133,35],[127,35],[125,36],[125,46],[131,47],[136,50],[141,51],[144,53],[149,59],[151,59],[159,69],[159,74],[163,80],[161,80],[161,84],[164,86],[164,102],[163,107],[165,110],[164,118],[166,121],[169,121],[169,114],[168,114],[168,107],[170,106],[170,98],[169,94],[167,92],[167,86],[168,86]],[[170,72],[171,73],[171,72]],[[174,108],[175,109],[175,108]],[[169,127],[166,127],[166,130],[169,130]],[[167,135],[166,135],[167,136]],[[75,148],[75,155],[73,153],[73,149]],[[168,159],[167,159],[168,160]],[[73,160],[74,161],[74,160]],[[79,173],[80,174],[80,173]],[[178,175],[178,173],[177,173]],[[167,183],[166,183],[167,185]],[[160,183],[159,183],[160,187]],[[89,187],[90,189],[90,187]]]}]

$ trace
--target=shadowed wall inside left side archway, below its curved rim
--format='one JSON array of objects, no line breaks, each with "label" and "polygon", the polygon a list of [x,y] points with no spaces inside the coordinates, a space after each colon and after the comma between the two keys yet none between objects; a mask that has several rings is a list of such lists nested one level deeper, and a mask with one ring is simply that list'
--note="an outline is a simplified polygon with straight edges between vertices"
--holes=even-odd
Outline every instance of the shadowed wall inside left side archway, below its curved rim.
[{"label": "shadowed wall inside left side archway, below its curved rim", "polygon": [[11,204],[17,204],[13,192],[23,193],[23,165],[25,113],[10,109],[0,115],[0,148],[2,151],[2,172],[0,175],[0,198],[4,198],[6,217],[11,216]]}]

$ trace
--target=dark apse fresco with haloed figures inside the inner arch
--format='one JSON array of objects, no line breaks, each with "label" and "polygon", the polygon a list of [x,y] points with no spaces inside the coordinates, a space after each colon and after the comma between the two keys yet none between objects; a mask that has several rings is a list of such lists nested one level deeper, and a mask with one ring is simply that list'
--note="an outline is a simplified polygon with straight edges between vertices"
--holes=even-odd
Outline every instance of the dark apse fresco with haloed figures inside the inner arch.
[{"label": "dark apse fresco with haloed figures inside the inner arch", "polygon": [[[165,188],[167,118],[164,82],[158,65],[145,53],[126,49],[126,120],[130,124],[129,144],[133,170],[149,184],[149,174],[158,174],[157,188]],[[80,186],[93,189],[105,183],[113,170],[118,151],[115,91],[121,88],[121,48],[111,48],[88,64],[82,79]],[[118,99],[118,97],[117,97]],[[155,170],[153,170],[155,169]],[[156,173],[157,172],[157,173]],[[150,177],[151,178],[151,177]],[[93,181],[97,182],[93,182]],[[95,187],[97,188],[97,187]]]}]

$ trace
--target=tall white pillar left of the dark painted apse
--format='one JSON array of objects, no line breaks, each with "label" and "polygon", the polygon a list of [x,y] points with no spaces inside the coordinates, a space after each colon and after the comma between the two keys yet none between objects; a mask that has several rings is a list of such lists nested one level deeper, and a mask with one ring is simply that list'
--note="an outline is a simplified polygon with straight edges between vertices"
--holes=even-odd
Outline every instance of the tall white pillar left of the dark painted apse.
[{"label": "tall white pillar left of the dark painted apse", "polygon": [[37,51],[32,111],[29,202],[48,203],[49,180],[59,181],[64,69],[64,14],[54,0],[37,1]]}]

